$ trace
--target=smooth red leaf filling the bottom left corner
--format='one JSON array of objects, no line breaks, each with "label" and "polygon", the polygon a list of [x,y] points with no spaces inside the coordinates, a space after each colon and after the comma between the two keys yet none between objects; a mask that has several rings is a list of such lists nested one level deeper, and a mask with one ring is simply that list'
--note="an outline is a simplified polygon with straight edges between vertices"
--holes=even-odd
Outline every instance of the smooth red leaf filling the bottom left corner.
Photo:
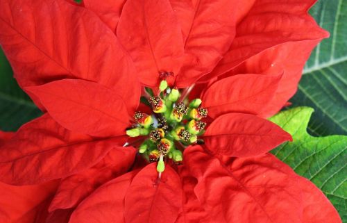
[{"label": "smooth red leaf filling the bottom left corner", "polygon": [[20,187],[0,182],[0,222],[43,223],[57,185],[57,181]]}]

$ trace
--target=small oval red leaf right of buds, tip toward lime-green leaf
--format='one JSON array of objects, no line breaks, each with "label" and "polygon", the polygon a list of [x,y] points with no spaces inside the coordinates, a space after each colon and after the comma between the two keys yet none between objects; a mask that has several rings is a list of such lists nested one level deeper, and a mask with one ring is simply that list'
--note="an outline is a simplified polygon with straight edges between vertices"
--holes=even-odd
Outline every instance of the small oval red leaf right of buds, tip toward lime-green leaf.
[{"label": "small oval red leaf right of buds, tip toward lime-green leaf", "polygon": [[203,135],[210,151],[226,156],[257,156],[291,140],[291,135],[255,115],[229,113],[215,119]]}]

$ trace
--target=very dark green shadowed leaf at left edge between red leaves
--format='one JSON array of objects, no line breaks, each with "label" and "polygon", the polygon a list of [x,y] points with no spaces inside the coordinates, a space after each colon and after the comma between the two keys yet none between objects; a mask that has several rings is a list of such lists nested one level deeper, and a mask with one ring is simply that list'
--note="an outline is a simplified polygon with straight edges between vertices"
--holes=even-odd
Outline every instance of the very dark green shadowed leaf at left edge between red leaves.
[{"label": "very dark green shadowed leaf at left edge between red leaves", "polygon": [[0,129],[16,131],[22,124],[41,114],[26,93],[19,88],[0,49]]}]

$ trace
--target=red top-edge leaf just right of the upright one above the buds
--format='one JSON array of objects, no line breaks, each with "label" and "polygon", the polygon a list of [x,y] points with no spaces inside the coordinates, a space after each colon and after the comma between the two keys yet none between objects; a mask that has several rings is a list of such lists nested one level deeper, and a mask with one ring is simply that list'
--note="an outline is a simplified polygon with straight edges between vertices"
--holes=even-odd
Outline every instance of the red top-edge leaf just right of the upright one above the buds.
[{"label": "red top-edge leaf just right of the upright one above the buds", "polygon": [[176,79],[185,88],[211,72],[235,37],[236,0],[171,0],[182,26],[185,60]]}]

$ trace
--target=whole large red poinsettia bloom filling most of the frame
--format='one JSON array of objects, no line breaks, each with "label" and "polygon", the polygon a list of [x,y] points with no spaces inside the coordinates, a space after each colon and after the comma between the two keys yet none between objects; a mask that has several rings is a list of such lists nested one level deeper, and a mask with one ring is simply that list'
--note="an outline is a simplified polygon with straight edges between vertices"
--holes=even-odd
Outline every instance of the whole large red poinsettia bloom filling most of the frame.
[{"label": "whole large red poinsettia bloom filling most of the frame", "polygon": [[[47,223],[341,222],[312,183],[265,154],[291,136],[264,117],[286,104],[328,37],[307,15],[313,2],[0,1],[1,47],[46,112],[1,133],[0,180],[47,188],[60,179],[54,197],[56,188],[33,200]],[[161,94],[149,99],[139,82]],[[188,106],[189,92],[207,109]],[[3,222],[31,220],[33,204],[4,208]]]}]

